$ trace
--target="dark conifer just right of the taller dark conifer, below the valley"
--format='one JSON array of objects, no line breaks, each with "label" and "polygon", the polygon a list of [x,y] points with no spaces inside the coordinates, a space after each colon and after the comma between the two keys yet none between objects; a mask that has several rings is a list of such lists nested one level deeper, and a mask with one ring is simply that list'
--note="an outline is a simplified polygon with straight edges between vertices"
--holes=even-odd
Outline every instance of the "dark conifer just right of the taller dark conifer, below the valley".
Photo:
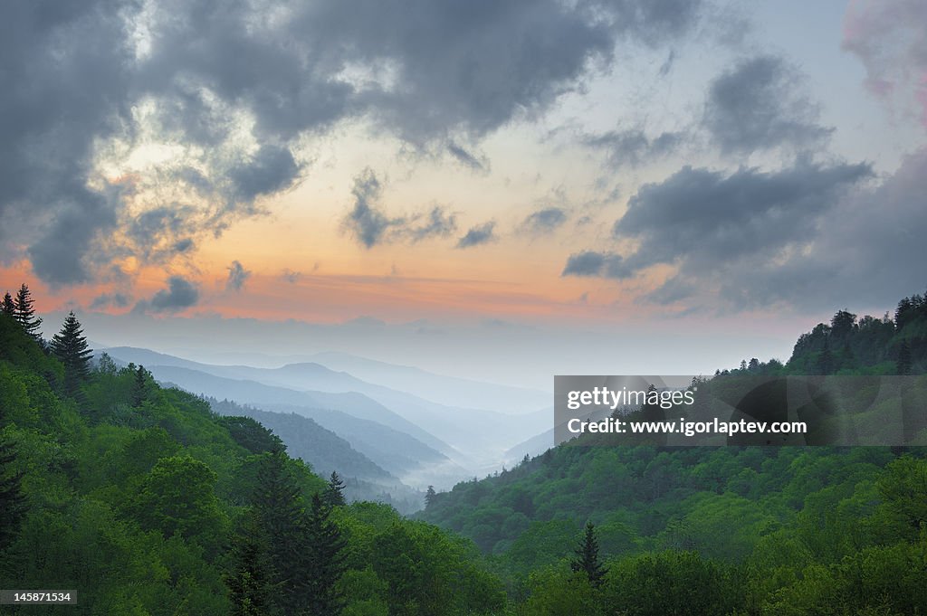
[{"label": "dark conifer just right of the taller dark conifer, below the valley", "polygon": [[345,605],[345,597],[339,592],[337,583],[347,570],[343,550],[348,542],[330,520],[329,508],[318,493],[312,495],[309,514],[309,534],[312,558],[310,602],[308,612],[312,616],[335,616]]}]

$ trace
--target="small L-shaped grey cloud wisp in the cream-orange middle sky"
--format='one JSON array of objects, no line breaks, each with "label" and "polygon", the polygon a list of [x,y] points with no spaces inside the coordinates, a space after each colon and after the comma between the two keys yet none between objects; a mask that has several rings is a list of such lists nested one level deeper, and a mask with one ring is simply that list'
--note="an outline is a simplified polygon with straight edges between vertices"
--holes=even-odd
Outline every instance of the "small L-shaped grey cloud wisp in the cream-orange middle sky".
[{"label": "small L-shaped grey cloud wisp in the cream-orange middle sky", "polygon": [[425,214],[390,218],[378,206],[383,186],[373,170],[363,170],[354,178],[351,194],[354,207],[342,221],[344,228],[367,248],[398,241],[420,242],[447,237],[457,229],[457,220],[443,207],[432,207]]}]

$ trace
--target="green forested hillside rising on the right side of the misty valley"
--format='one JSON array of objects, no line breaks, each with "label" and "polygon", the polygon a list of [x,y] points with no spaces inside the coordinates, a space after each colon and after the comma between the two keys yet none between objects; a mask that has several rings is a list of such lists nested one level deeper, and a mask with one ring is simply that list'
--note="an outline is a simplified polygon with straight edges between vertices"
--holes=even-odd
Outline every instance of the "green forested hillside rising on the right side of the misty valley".
[{"label": "green forested hillside rising on the right side of the misty valley", "polygon": [[[716,378],[902,373],[923,389],[925,332],[920,295],[895,320],[841,310],[789,361]],[[491,555],[525,613],[927,613],[922,448],[582,442],[429,494],[420,514]],[[587,522],[602,576],[570,566]]]}]

